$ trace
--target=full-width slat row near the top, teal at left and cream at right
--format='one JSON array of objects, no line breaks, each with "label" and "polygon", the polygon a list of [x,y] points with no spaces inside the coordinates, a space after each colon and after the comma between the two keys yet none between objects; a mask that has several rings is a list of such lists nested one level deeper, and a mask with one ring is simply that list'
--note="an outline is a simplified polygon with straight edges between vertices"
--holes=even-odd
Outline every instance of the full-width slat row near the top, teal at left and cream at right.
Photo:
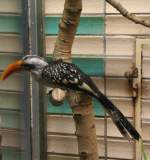
[{"label": "full-width slat row near the top, teal at left and cream at right", "polygon": [[[140,16],[147,20],[150,16]],[[55,35],[58,33],[58,23],[60,17],[46,16],[45,17],[45,33]],[[20,16],[0,16],[0,32],[5,33],[21,33],[21,17]],[[130,34],[143,35],[150,34],[150,29],[141,25],[136,25],[133,22],[121,16],[107,16],[106,18],[106,33],[107,34]],[[118,29],[116,29],[118,28]],[[103,35],[104,34],[104,19],[103,17],[81,17],[77,34],[83,35]]]}]

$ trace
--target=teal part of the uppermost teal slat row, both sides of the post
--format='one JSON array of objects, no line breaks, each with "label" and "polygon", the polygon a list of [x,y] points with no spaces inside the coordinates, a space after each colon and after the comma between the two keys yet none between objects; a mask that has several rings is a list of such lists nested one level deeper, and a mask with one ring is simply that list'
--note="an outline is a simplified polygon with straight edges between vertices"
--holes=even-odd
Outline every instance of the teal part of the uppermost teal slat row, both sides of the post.
[{"label": "teal part of the uppermost teal slat row, both sides of the post", "polygon": [[[58,23],[60,17],[45,17],[45,33],[55,35],[58,33]],[[22,33],[22,18],[15,15],[0,15],[0,32]],[[77,29],[80,35],[102,35],[104,34],[103,17],[81,17]]]}]

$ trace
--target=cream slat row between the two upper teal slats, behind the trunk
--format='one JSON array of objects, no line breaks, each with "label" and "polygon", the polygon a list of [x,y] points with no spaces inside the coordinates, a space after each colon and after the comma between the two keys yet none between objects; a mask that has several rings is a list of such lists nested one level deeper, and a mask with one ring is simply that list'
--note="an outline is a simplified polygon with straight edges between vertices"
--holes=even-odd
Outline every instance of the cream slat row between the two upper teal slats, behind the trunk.
[{"label": "cream slat row between the two upper teal slats, behind the trunk", "polygon": [[[52,55],[56,36],[46,36],[46,53]],[[106,44],[108,56],[132,56],[134,55],[135,38],[132,36],[76,36],[73,47],[73,56],[101,56]]]}]

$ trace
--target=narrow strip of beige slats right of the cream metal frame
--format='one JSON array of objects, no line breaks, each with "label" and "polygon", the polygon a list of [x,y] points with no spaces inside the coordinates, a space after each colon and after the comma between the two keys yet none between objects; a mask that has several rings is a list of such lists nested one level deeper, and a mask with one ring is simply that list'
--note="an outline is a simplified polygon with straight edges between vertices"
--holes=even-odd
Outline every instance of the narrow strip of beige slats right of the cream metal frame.
[{"label": "narrow strip of beige slats right of the cream metal frame", "polygon": [[142,136],[145,140],[145,147],[150,154],[150,45],[142,47]]}]

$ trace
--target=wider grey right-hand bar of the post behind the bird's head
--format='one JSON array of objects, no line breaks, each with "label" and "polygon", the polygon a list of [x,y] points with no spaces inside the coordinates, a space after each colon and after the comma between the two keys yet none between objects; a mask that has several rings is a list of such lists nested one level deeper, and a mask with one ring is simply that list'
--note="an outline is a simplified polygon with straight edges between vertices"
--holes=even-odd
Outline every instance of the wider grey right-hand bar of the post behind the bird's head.
[{"label": "wider grey right-hand bar of the post behind the bird's head", "polygon": [[[31,53],[43,56],[43,1],[30,0]],[[32,79],[32,159],[46,159],[46,120],[44,89]]]}]

